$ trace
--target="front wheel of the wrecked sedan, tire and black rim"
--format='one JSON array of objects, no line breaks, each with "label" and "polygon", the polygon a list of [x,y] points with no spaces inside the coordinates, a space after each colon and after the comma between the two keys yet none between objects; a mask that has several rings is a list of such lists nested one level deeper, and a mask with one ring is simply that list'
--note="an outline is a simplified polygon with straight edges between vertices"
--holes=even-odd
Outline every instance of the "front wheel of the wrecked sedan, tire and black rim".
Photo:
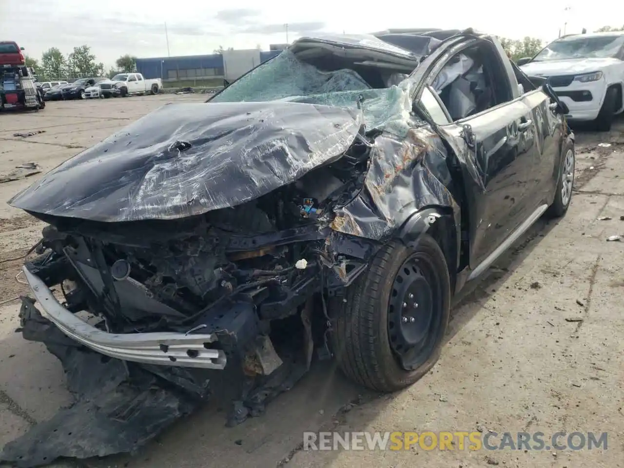
[{"label": "front wheel of the wrecked sedan, tire and black rim", "polygon": [[344,374],[376,391],[410,386],[439,358],[451,311],[444,253],[425,234],[385,245],[335,300],[331,343]]}]

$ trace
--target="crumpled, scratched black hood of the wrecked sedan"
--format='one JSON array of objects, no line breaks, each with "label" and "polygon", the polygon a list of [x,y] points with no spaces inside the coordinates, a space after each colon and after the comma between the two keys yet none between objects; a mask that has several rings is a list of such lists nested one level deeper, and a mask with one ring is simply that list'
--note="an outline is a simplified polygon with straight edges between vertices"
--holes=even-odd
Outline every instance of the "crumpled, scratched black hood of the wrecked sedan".
[{"label": "crumpled, scratched black hood of the wrecked sedan", "polygon": [[27,212],[122,222],[233,207],[341,157],[355,111],[297,102],[170,104],[9,200]]}]

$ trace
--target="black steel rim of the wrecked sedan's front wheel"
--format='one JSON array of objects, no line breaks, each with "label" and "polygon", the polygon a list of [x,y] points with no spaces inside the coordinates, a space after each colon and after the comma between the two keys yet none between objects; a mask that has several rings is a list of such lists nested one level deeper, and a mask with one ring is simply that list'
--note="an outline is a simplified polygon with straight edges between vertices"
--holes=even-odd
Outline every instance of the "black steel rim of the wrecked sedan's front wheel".
[{"label": "black steel rim of the wrecked sedan's front wheel", "polygon": [[411,371],[431,356],[442,323],[439,274],[422,253],[396,273],[388,304],[388,341],[399,365]]}]

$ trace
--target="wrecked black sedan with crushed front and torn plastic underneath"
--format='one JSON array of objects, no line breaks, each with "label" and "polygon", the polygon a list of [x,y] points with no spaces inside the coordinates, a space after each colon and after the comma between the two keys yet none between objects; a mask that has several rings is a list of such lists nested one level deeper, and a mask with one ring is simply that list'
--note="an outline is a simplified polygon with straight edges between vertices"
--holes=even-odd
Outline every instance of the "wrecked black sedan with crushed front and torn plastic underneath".
[{"label": "wrecked black sedan with crushed front and torn plastic underneath", "polygon": [[474,31],[306,37],[62,163],[10,203],[49,224],[22,333],[77,402],[3,459],[132,451],[222,388],[236,424],[314,356],[414,383],[451,296],[566,212],[566,113]]}]

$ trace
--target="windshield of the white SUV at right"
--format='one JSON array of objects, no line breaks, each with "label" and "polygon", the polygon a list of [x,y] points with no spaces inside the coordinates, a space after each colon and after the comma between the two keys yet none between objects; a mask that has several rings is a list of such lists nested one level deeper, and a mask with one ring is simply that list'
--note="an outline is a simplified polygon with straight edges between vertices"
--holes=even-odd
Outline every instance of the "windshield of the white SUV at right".
[{"label": "windshield of the white SUV at right", "polygon": [[534,62],[565,59],[602,59],[614,57],[624,45],[624,36],[579,37],[548,44]]}]

